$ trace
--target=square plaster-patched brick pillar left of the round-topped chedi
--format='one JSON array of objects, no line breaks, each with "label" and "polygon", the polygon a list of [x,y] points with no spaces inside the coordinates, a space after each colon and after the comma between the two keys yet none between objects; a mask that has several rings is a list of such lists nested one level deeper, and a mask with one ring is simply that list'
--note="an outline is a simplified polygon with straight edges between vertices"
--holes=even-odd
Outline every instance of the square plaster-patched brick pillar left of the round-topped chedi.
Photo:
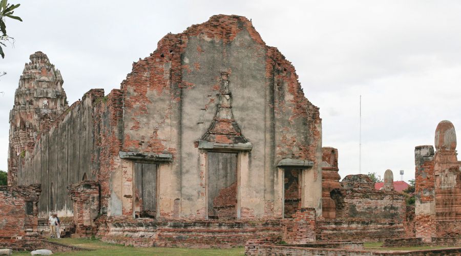
[{"label": "square plaster-patched brick pillar left of the round-topped chedi", "polygon": [[434,147],[416,146],[415,163],[415,231],[416,237],[431,242],[435,237]]}]

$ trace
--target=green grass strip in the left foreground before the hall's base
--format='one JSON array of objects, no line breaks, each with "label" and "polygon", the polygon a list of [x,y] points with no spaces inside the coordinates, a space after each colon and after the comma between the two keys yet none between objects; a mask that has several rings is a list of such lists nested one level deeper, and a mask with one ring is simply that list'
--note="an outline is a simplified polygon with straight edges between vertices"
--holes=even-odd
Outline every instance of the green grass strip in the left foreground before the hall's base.
[{"label": "green grass strip in the left foreground before the hall's base", "polygon": [[[62,238],[59,240],[52,239],[50,241],[94,249],[93,251],[76,251],[73,253],[56,252],[53,253],[53,255],[243,255],[245,251],[243,247],[231,249],[143,248],[108,244],[85,238]],[[30,252],[13,252],[13,255],[30,255]]]}]

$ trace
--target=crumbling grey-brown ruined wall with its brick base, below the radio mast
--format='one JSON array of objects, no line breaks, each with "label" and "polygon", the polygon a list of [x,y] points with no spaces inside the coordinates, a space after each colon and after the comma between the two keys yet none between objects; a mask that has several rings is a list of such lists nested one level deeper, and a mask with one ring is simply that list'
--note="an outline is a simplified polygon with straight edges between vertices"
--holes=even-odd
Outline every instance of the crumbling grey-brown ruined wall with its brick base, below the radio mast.
[{"label": "crumbling grey-brown ruined wall with its brick base, below the radio mast", "polygon": [[317,240],[384,241],[405,237],[404,195],[374,189],[367,175],[348,175],[340,185],[330,192],[336,218],[317,220]]}]

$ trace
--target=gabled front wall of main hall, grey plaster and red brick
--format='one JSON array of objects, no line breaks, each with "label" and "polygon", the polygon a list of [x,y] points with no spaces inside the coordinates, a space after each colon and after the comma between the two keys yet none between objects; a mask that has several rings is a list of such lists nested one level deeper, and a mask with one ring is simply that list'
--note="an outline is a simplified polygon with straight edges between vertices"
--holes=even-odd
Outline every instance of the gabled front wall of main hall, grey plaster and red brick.
[{"label": "gabled front wall of main hall, grey plaster and red brick", "polygon": [[[320,189],[318,108],[304,98],[291,64],[275,48],[265,46],[247,19],[218,15],[181,34],[165,36],[122,83],[122,151],[173,158],[158,168],[160,179],[171,181],[169,190],[160,188],[159,215],[175,215],[178,198],[180,216],[206,218],[206,175],[199,162],[206,165],[206,153],[213,147],[196,146],[221,104],[222,72],[228,74],[232,92],[232,121],[252,143],[250,152],[239,156],[239,217],[281,215],[275,187],[280,184],[277,172],[283,170],[275,163],[283,158],[314,163],[304,173],[311,189],[306,189],[303,206],[320,207],[320,195],[315,194]],[[254,182],[261,178],[265,181]]]}]

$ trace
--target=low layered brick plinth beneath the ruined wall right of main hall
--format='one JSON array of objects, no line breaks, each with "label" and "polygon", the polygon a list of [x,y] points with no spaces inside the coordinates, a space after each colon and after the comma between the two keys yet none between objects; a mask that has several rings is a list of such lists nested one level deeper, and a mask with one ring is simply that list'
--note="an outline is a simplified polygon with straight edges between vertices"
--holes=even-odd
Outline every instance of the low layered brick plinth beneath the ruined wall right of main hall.
[{"label": "low layered brick plinth beneath the ruined wall right of main hall", "polygon": [[323,219],[317,221],[317,241],[376,242],[405,237],[401,221],[385,219]]}]

